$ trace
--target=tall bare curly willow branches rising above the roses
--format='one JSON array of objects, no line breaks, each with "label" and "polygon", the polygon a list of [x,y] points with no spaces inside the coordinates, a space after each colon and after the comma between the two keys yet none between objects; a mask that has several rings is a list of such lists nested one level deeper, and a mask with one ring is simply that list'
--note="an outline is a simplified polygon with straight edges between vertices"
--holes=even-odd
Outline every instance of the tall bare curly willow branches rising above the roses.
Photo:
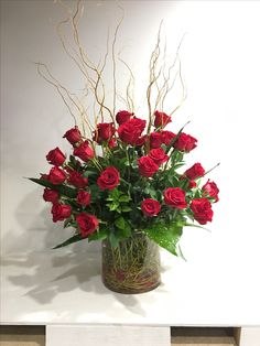
[{"label": "tall bare curly willow branches rising above the roses", "polygon": [[[107,33],[107,44],[106,44],[106,52],[102,57],[100,57],[99,62],[96,64],[88,55],[86,50],[84,48],[82,44],[82,39],[79,35],[79,20],[83,17],[84,13],[84,0],[77,0],[75,10],[73,10],[67,3],[65,3],[64,0],[56,0],[57,2],[65,11],[66,18],[63,19],[61,22],[58,22],[55,26],[57,36],[61,41],[62,47],[66,55],[73,61],[73,63],[76,65],[76,67],[82,73],[84,80],[85,80],[85,87],[84,87],[84,96],[80,98],[76,96],[75,94],[72,94],[66,87],[64,87],[50,72],[48,67],[43,63],[35,63],[37,66],[37,72],[41,77],[43,77],[47,83],[53,85],[59,96],[62,97],[64,104],[66,105],[71,116],[74,119],[74,122],[76,125],[76,115],[80,117],[80,121],[84,128],[85,133],[85,127],[87,126],[89,132],[91,133],[93,130],[97,127],[97,123],[99,121],[105,122],[105,115],[108,115],[113,123],[115,121],[115,115],[116,115],[116,102],[117,99],[121,100],[123,104],[126,104],[127,108],[133,112],[134,111],[134,76],[133,73],[126,63],[121,56],[120,53],[118,56],[116,56],[116,45],[118,40],[118,33],[119,29],[121,26],[121,23],[124,18],[124,11],[121,7],[120,10],[122,11],[122,15],[120,21],[118,22],[113,35],[110,43],[110,35],[109,31]],[[164,43],[164,50],[163,53],[161,52],[161,31],[162,31],[162,24],[163,21],[161,21],[158,35],[156,35],[156,43],[152,51],[152,54],[150,56],[149,62],[149,85],[147,87],[147,104],[148,104],[148,112],[149,112],[149,121],[148,121],[148,134],[151,132],[152,127],[152,118],[154,115],[154,111],[158,107],[160,107],[163,110],[164,101],[166,97],[169,96],[171,89],[174,86],[176,75],[172,80],[172,71],[176,65],[176,62],[178,61],[180,69],[178,69],[178,77],[182,85],[182,100],[181,104],[175,107],[171,115],[176,111],[183,101],[186,98],[186,89],[182,77],[182,68],[181,68],[181,61],[178,56],[178,52],[181,48],[182,41],[184,36],[182,37],[182,41],[177,47],[176,56],[174,62],[170,67],[166,66],[166,40]],[[72,37],[68,37],[65,34],[65,28],[69,25]],[[71,40],[69,40],[71,39]],[[109,47],[111,51],[109,51]],[[105,88],[105,82],[104,82],[104,74],[105,69],[108,65],[108,57],[111,57],[111,68],[112,68],[112,108],[110,109],[106,105],[106,88]],[[126,98],[117,90],[117,61],[123,64],[124,68],[129,73],[128,77],[128,84],[126,88]],[[110,63],[110,60],[109,60]],[[155,100],[152,100],[152,96],[155,88]],[[93,105],[93,116],[94,116],[94,123],[91,125],[90,118],[88,117],[88,109],[89,107],[85,107],[85,101],[88,100],[90,95],[94,96],[94,105]],[[75,113],[76,111],[76,113]]]}]

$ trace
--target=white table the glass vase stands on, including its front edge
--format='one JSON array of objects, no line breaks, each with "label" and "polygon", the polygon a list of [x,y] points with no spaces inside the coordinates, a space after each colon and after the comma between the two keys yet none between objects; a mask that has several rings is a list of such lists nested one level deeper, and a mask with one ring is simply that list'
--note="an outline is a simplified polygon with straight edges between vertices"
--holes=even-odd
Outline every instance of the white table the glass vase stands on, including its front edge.
[{"label": "white table the glass vase stands on, including its front edge", "polygon": [[10,255],[1,259],[0,323],[46,325],[47,346],[166,346],[171,326],[241,327],[240,345],[259,346],[260,285],[245,292],[240,282],[229,267],[208,271],[162,250],[162,284],[124,295],[102,285],[99,253]]}]

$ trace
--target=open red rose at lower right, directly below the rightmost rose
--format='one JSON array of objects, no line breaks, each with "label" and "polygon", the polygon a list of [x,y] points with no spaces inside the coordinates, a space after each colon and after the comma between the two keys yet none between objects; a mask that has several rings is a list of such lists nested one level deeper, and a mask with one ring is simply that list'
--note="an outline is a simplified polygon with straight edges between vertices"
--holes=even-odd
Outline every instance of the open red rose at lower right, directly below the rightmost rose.
[{"label": "open red rose at lower right, directly below the rightmost rose", "polygon": [[191,203],[191,209],[193,210],[194,218],[201,225],[207,224],[213,220],[212,204],[207,198],[196,198]]}]

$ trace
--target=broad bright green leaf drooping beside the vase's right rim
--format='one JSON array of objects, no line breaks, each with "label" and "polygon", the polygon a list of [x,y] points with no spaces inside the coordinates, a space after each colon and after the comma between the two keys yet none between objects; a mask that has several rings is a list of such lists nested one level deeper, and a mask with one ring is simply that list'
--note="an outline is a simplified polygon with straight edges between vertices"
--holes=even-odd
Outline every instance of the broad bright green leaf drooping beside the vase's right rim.
[{"label": "broad bright green leaf drooping beside the vase's right rim", "polygon": [[183,228],[175,223],[170,225],[154,224],[151,227],[143,229],[151,240],[155,241],[159,246],[175,256],[180,255],[176,247],[182,236],[182,230]]}]

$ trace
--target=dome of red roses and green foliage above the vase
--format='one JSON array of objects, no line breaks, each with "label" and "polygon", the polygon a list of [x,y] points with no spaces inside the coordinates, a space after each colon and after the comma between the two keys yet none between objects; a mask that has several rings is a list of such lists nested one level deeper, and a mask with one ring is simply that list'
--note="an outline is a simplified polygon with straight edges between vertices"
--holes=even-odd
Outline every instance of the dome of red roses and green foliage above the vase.
[{"label": "dome of red roses and green foliage above the vase", "polygon": [[89,241],[120,240],[155,226],[159,239],[160,225],[212,221],[213,203],[219,199],[216,183],[207,180],[199,187],[207,174],[199,162],[183,169],[197,139],[166,130],[173,119],[159,110],[150,125],[128,110],[112,120],[97,123],[88,138],[75,126],[64,134],[72,154],[59,148],[46,154],[52,166],[34,181],[45,186],[53,221],[64,221],[75,229],[74,237]]}]

